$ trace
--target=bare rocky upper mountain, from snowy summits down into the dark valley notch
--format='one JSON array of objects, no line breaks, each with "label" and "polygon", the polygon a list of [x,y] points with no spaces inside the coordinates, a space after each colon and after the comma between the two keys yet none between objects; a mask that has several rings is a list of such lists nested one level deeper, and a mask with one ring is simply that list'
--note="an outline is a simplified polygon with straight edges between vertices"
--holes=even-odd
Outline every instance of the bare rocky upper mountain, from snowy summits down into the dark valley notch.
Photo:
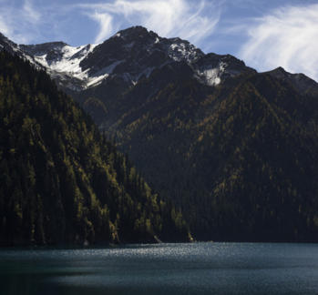
[{"label": "bare rocky upper mountain, from snowy summits down into the dark valley notch", "polygon": [[[176,79],[195,78],[201,84],[217,86],[231,76],[257,74],[234,56],[206,55],[186,40],[162,38],[142,26],[119,31],[97,45],[72,47],[64,42],[16,45],[0,35],[1,47],[45,69],[59,88],[89,111],[99,127],[106,128],[116,125],[130,108],[140,107],[156,97]],[[302,93],[316,92],[318,88],[309,77],[290,74],[282,67],[268,74],[287,79]],[[146,80],[150,82],[145,83]],[[132,89],[136,92],[135,88],[142,90],[138,102],[131,104],[123,96]],[[97,106],[103,106],[105,111]]]}]

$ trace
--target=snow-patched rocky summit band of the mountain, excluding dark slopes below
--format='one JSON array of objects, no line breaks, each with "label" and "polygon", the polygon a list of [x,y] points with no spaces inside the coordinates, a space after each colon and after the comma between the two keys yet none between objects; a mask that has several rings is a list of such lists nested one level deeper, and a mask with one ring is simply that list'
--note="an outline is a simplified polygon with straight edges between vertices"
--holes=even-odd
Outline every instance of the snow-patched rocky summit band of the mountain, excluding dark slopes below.
[{"label": "snow-patched rocky summit band of the mountain, excluding dark slopes below", "polygon": [[153,70],[182,62],[189,66],[189,76],[208,85],[218,85],[222,79],[247,68],[234,56],[205,55],[188,41],[162,38],[142,26],[119,31],[98,45],[72,47],[51,42],[17,46],[3,35],[0,44],[45,68],[57,85],[78,91],[115,77],[130,87]]}]

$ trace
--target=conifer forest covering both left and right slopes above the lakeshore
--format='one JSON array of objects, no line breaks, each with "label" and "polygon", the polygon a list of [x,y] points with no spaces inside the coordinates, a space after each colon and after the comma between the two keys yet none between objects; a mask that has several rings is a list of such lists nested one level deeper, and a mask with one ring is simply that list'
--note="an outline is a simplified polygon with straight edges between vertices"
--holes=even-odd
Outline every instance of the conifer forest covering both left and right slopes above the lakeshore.
[{"label": "conifer forest covering both left and right slopes above the lakeshore", "polygon": [[314,89],[251,71],[168,84],[164,67],[78,93],[84,111],[27,61],[0,65],[1,245],[318,241]]}]

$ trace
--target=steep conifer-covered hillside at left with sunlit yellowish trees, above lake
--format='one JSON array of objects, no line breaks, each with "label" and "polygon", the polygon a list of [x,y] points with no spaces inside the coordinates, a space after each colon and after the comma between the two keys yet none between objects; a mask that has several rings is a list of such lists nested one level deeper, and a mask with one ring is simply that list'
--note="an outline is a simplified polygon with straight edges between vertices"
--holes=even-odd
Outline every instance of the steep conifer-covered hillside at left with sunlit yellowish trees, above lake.
[{"label": "steep conifer-covered hillside at left with sunlit yellowish trees, above lake", "polygon": [[1,52],[0,245],[157,237],[190,240],[180,210],[149,188],[45,71]]}]

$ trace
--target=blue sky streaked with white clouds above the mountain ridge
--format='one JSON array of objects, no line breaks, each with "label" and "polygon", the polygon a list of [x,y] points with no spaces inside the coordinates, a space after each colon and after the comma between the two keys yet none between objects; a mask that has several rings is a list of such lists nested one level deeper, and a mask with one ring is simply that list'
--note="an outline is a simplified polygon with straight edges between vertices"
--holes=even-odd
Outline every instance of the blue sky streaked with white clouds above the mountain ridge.
[{"label": "blue sky streaked with white clouds above the mountain ridge", "polygon": [[0,0],[0,32],[17,44],[98,44],[133,25],[318,81],[318,0]]}]

